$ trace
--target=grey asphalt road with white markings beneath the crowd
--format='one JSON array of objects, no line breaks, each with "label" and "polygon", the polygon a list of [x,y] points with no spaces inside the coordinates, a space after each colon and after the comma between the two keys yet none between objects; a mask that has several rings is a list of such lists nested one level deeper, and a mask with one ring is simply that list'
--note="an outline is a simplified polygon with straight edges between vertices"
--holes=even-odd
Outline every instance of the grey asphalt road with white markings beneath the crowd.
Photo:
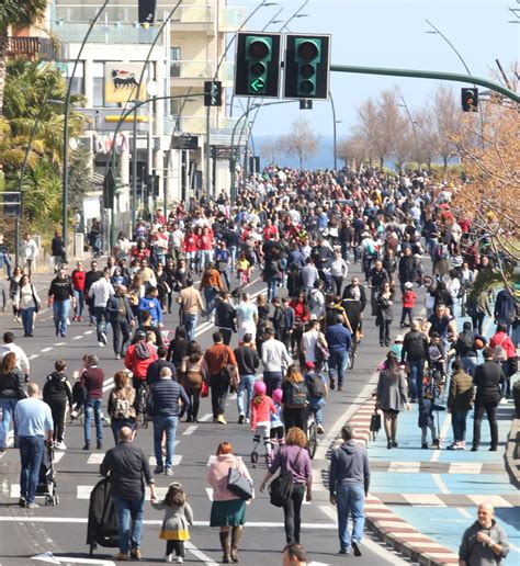
[{"label": "grey asphalt road with white markings beneath the crowd", "polygon": [[[358,267],[351,267],[351,273],[358,273]],[[49,275],[38,275],[35,279],[41,296],[46,296]],[[251,284],[252,294],[264,292],[264,285],[257,281]],[[397,309],[396,309],[397,312]],[[68,365],[68,375],[80,369],[84,353],[95,353],[100,356],[100,365],[104,369],[106,378],[122,367],[122,362],[113,356],[112,348],[98,347],[93,327],[88,322],[74,322],[69,326],[67,338],[56,338],[52,314],[43,310],[34,338],[23,338],[23,331],[9,314],[0,315],[3,330],[15,331],[16,343],[22,346],[31,359],[31,377],[43,385],[45,376],[53,371],[54,362],[63,359]],[[166,327],[177,326],[177,315],[167,315]],[[211,344],[211,333],[214,327],[200,322],[197,340],[206,348]],[[398,332],[397,325],[393,335]],[[364,324],[365,338],[359,350],[355,367],[349,373],[343,392],[331,392],[325,408],[326,433],[320,437],[320,446],[314,460],[314,499],[303,507],[302,542],[309,553],[309,558],[318,564],[339,565],[346,561],[355,564],[388,565],[405,564],[405,561],[378,542],[370,534],[363,540],[363,556],[361,558],[338,556],[339,542],[337,536],[336,512],[328,503],[328,493],[321,483],[321,475],[328,467],[325,459],[330,442],[337,435],[341,424],[348,420],[357,404],[366,397],[372,388],[375,366],[385,354],[380,348],[376,328],[373,319]],[[112,337],[109,336],[109,342]],[[236,346],[236,336],[231,347]],[[371,384],[372,382],[372,384]],[[110,385],[108,386],[110,389]],[[188,545],[186,563],[202,562],[217,564],[221,550],[216,529],[210,529],[208,518],[211,493],[206,490],[206,471],[208,459],[215,453],[218,442],[230,441],[238,455],[249,464],[251,451],[251,433],[247,426],[237,423],[236,400],[229,398],[226,416],[227,426],[211,422],[210,400],[201,406],[200,417],[203,422],[194,426],[181,423],[178,429],[176,446],[174,479],[183,484],[189,501],[194,509],[195,525],[191,532],[191,543]],[[25,510],[18,507],[19,497],[19,454],[8,450],[0,461],[1,496],[0,496],[0,566],[26,565],[30,557],[39,553],[50,552],[60,557],[88,557],[86,545],[88,498],[90,490],[99,480],[99,463],[103,457],[102,451],[83,452],[83,433],[80,424],[70,424],[66,431],[67,451],[57,453],[57,489],[59,505],[42,507],[37,510]],[[150,456],[154,454],[152,430],[142,430],[136,442]],[[113,445],[110,428],[104,430],[104,449]],[[259,463],[252,469],[252,476],[258,485],[265,472],[265,465]],[[159,488],[166,488],[170,477],[156,478]],[[145,530],[143,539],[144,564],[162,562],[165,543],[158,540],[161,513],[145,507]],[[269,503],[268,496],[257,494],[257,498],[247,509],[247,525],[241,548],[241,563],[257,566],[281,564],[281,550],[284,546],[283,512]],[[94,556],[110,558],[115,554],[112,548],[98,548]],[[63,558],[61,558],[63,559]],[[76,564],[76,562],[71,562]],[[67,562],[65,562],[67,564]],[[79,564],[79,562],[78,562]]]}]

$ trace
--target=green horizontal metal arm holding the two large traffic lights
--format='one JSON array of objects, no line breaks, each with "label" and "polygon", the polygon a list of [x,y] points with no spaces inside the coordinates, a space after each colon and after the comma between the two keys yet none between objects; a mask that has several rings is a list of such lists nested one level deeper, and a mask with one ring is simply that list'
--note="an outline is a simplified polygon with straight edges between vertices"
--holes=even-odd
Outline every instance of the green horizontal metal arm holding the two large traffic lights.
[{"label": "green horizontal metal arm holding the two large traffic lights", "polygon": [[412,70],[412,69],[385,69],[383,67],[352,67],[350,65],[331,65],[330,70],[332,72],[354,72],[361,75],[386,75],[389,77],[410,77],[415,79],[437,79],[437,80],[450,80],[456,82],[465,82],[466,84],[479,84],[486,87],[495,92],[504,94],[506,98],[520,103],[520,94],[515,91],[493,82],[488,79],[482,79],[481,77],[474,77],[473,75],[460,75],[457,72],[442,72],[442,71],[427,71],[427,70]]}]

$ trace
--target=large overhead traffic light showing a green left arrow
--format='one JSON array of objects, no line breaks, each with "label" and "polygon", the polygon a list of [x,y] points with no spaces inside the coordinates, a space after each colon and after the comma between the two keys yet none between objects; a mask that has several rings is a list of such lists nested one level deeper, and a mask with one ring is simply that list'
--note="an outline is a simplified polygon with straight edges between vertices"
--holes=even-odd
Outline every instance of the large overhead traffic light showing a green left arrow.
[{"label": "large overhead traffic light showing a green left arrow", "polygon": [[235,95],[279,98],[279,33],[238,33],[235,59]]}]

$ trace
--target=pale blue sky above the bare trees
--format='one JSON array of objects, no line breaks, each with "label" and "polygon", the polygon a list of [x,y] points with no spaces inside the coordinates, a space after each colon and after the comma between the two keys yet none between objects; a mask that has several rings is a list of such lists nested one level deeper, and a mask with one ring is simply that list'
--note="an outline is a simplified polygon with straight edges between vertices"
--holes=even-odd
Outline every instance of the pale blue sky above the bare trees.
[{"label": "pale blue sky above the bare trees", "polygon": [[[269,0],[271,1],[271,0]],[[274,0],[273,0],[274,1]],[[228,0],[252,11],[258,1]],[[278,0],[278,5],[261,8],[247,25],[260,31],[274,19],[286,22],[305,0]],[[466,73],[454,50],[433,31],[429,20],[454,45],[472,75],[490,78],[498,59],[509,76],[515,63],[520,65],[520,23],[509,8],[518,9],[520,0],[307,0],[289,27],[292,33],[331,34],[331,64],[368,67],[426,69]],[[267,31],[278,32],[283,23]],[[495,79],[494,79],[495,80]],[[355,123],[355,109],[368,98],[377,98],[383,89],[397,87],[412,112],[428,102],[439,81],[332,72],[330,91],[339,122],[338,139],[349,135]],[[452,82],[454,95],[471,86]],[[244,100],[244,99],[242,99]],[[270,102],[271,100],[265,100]],[[299,111],[298,103],[262,109],[255,123],[255,135],[280,135],[302,112],[321,136],[332,135],[329,101],[315,102],[313,111]],[[238,115],[238,109],[234,115]]]}]

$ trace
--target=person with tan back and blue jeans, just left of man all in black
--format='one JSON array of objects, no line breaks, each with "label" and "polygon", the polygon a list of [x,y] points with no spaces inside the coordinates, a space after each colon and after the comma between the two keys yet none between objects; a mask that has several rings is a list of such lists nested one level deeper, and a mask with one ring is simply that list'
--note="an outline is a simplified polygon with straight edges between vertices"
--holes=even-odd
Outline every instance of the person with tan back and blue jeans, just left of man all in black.
[{"label": "person with tan back and blue jeans, just left of man all in black", "polygon": [[448,450],[465,450],[466,419],[473,407],[475,392],[472,376],[464,371],[463,363],[455,360],[451,367],[453,375],[451,376],[446,408],[448,412],[451,412],[453,443],[448,446]]}]

